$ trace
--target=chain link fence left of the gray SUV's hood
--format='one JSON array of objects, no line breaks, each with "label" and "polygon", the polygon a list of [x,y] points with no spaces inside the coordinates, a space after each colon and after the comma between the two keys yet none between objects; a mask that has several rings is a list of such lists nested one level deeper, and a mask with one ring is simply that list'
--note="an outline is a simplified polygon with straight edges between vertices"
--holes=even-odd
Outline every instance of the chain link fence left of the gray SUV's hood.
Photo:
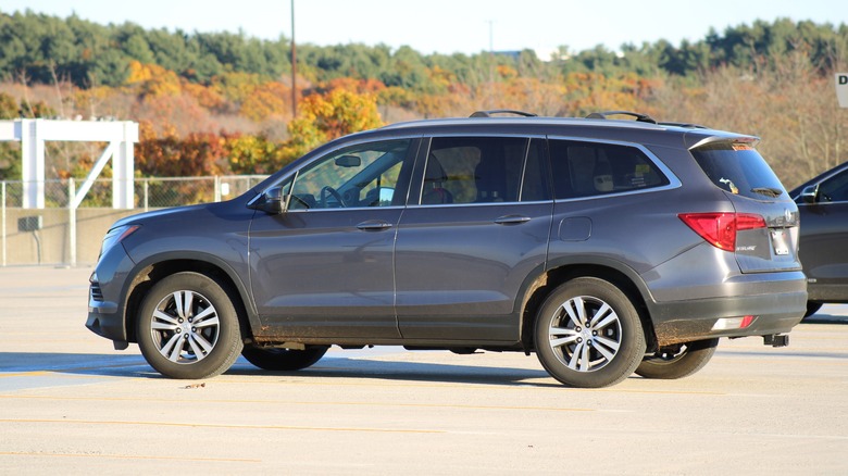
[{"label": "chain link fence left of the gray SUV's hood", "polygon": [[100,242],[119,218],[149,210],[228,200],[265,175],[138,178],[135,209],[112,208],[112,180],[97,179],[77,209],[82,180],[45,180],[43,209],[25,209],[24,183],[0,181],[0,265],[77,265],[97,262]]}]

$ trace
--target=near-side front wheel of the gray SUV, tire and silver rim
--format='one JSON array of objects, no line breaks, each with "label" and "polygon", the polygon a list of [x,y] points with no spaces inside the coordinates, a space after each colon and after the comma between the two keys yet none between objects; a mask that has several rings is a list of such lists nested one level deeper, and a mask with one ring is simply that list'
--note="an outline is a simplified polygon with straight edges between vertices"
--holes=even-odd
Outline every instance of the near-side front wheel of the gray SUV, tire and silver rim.
[{"label": "near-side front wheel of the gray SUV, tire and silver rim", "polygon": [[136,336],[150,366],[171,378],[219,375],[236,362],[242,348],[233,298],[198,273],[173,274],[148,291]]}]

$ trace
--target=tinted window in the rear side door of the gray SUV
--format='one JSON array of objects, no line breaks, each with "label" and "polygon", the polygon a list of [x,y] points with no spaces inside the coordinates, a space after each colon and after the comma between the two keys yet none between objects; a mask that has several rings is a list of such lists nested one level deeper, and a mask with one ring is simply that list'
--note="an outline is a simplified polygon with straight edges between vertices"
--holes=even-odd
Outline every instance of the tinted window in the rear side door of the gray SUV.
[{"label": "tinted window in the rear side door of the gray SUV", "polygon": [[[433,138],[421,203],[519,201],[528,142],[520,137]],[[535,150],[538,154],[538,147]],[[541,179],[540,175],[535,179]],[[534,183],[533,187],[534,193],[540,193],[541,185]]]}]

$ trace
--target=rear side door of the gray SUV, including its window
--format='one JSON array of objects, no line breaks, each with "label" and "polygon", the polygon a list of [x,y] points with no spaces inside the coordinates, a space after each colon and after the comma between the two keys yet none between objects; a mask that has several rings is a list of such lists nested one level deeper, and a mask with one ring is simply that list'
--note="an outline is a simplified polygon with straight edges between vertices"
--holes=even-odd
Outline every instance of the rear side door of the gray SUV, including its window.
[{"label": "rear side door of the gray SUV, including its window", "polygon": [[516,341],[516,297],[546,262],[552,213],[544,139],[422,145],[396,245],[404,339]]}]

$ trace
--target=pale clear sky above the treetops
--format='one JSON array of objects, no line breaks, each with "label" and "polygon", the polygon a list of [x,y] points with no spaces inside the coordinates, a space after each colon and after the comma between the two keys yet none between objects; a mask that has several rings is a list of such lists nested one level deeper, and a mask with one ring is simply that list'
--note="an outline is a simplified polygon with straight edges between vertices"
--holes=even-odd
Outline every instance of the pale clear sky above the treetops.
[{"label": "pale clear sky above the treetops", "polygon": [[[385,43],[421,53],[510,51],[529,48],[546,59],[560,46],[578,52],[602,45],[619,50],[665,39],[703,39],[714,28],[778,17],[848,24],[840,0],[294,0],[295,40],[319,46]],[[2,0],[0,12],[30,9],[100,24],[145,28],[244,32],[291,38],[291,0]]]}]

